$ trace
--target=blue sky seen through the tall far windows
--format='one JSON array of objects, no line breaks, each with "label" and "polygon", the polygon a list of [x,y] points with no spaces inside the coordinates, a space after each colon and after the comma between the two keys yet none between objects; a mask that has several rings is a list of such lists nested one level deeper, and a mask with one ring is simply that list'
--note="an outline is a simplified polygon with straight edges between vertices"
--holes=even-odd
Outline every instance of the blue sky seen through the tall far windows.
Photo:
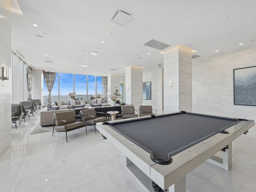
[{"label": "blue sky seen through the tall far windows", "polygon": [[[68,95],[73,92],[73,74],[57,73],[52,96],[58,95],[58,76],[60,74],[60,95]],[[86,75],[75,74],[75,92],[77,95],[86,94]],[[97,93],[102,94],[101,76],[97,76]],[[48,90],[44,83],[44,95],[48,95]],[[95,76],[88,75],[88,95],[95,95]]]}]

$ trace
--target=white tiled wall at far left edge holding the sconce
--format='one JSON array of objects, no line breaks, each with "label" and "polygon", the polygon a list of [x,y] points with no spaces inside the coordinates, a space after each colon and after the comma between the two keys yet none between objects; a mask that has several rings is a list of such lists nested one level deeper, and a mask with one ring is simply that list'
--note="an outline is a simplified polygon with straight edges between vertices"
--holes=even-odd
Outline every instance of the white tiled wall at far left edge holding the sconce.
[{"label": "white tiled wall at far left edge holding the sconce", "polygon": [[9,80],[0,79],[0,156],[11,146],[11,8],[9,0],[0,0],[0,67],[9,68]]}]

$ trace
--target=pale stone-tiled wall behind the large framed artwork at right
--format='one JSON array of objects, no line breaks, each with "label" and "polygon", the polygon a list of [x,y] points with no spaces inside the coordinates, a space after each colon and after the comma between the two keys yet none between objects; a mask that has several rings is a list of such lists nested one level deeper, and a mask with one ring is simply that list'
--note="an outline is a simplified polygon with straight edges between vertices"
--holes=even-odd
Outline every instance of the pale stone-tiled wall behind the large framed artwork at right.
[{"label": "pale stone-tiled wall behind the large framed artwork at right", "polygon": [[256,120],[256,106],[233,104],[233,69],[250,66],[256,66],[256,46],[194,59],[193,112]]}]

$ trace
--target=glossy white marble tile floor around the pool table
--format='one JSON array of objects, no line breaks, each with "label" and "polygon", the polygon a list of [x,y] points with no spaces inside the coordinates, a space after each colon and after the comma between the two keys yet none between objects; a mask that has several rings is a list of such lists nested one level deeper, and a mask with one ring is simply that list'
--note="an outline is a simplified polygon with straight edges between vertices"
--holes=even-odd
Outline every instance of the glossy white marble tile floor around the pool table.
[{"label": "glossy white marble tile floor around the pool table", "polygon": [[[12,126],[12,146],[0,157],[0,192],[143,192],[126,172],[124,155],[94,128],[30,135],[36,116]],[[255,192],[256,127],[233,144],[233,166],[209,162],[186,176],[186,192]]]}]

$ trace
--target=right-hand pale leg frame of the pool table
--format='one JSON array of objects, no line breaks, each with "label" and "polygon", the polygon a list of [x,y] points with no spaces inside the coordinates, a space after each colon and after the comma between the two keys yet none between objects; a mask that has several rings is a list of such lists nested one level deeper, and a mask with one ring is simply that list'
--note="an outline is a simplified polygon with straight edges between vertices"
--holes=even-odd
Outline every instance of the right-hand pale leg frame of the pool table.
[{"label": "right-hand pale leg frame of the pool table", "polygon": [[222,158],[212,156],[207,161],[223,169],[230,170],[232,167],[232,143],[228,145],[228,149],[222,152]]}]

